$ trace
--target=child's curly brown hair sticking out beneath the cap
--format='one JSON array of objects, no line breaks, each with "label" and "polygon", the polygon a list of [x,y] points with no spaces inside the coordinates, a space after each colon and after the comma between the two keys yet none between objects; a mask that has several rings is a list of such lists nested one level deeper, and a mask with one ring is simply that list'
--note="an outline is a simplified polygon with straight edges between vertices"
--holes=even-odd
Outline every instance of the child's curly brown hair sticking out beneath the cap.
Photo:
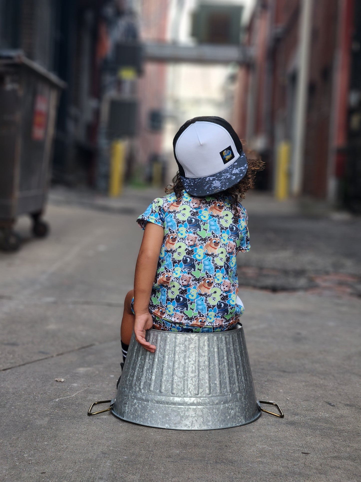
[{"label": "child's curly brown hair sticking out beneath the cap", "polygon": [[[238,202],[240,202],[242,199],[245,199],[245,193],[248,191],[248,189],[252,189],[252,187],[254,187],[255,185],[256,173],[258,171],[262,171],[262,169],[264,169],[264,166],[265,166],[265,163],[260,158],[258,158],[256,152],[247,149],[245,147],[244,141],[242,141],[242,144],[244,146],[243,150],[247,157],[247,164],[248,164],[245,177],[243,177],[234,186],[229,187],[225,191],[221,191],[217,193],[217,197],[220,200],[227,198],[231,202],[232,207],[235,207]],[[179,171],[178,171],[177,174],[172,179],[172,184],[169,184],[166,187],[165,191],[166,191],[166,194],[171,194],[172,192],[174,192],[177,198],[181,198],[183,190],[184,190],[184,186],[181,181],[181,175],[179,174]],[[197,196],[197,197],[200,198],[200,196]]]}]

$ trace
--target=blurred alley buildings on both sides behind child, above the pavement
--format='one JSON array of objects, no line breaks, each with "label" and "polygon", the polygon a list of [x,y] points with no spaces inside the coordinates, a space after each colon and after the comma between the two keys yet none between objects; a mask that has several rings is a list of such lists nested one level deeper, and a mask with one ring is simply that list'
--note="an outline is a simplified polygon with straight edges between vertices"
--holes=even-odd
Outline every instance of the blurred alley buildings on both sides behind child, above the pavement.
[{"label": "blurred alley buildings on both sides behind child, above the pavement", "polygon": [[0,0],[0,49],[66,82],[55,183],[168,183],[178,128],[219,115],[266,162],[258,189],[361,209],[359,2]]}]

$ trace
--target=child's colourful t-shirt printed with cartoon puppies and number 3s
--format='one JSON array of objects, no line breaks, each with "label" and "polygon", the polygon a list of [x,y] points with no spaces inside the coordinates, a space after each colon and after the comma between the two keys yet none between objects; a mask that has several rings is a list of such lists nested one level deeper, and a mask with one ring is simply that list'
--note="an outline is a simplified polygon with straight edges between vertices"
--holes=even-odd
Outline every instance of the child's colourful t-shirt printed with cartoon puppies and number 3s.
[{"label": "child's colourful t-shirt printed with cartoon puppies and number 3s", "polygon": [[249,251],[247,213],[215,196],[183,191],[157,198],[138,219],[164,228],[149,310],[153,328],[167,331],[229,330],[243,314],[236,303],[236,254]]}]

